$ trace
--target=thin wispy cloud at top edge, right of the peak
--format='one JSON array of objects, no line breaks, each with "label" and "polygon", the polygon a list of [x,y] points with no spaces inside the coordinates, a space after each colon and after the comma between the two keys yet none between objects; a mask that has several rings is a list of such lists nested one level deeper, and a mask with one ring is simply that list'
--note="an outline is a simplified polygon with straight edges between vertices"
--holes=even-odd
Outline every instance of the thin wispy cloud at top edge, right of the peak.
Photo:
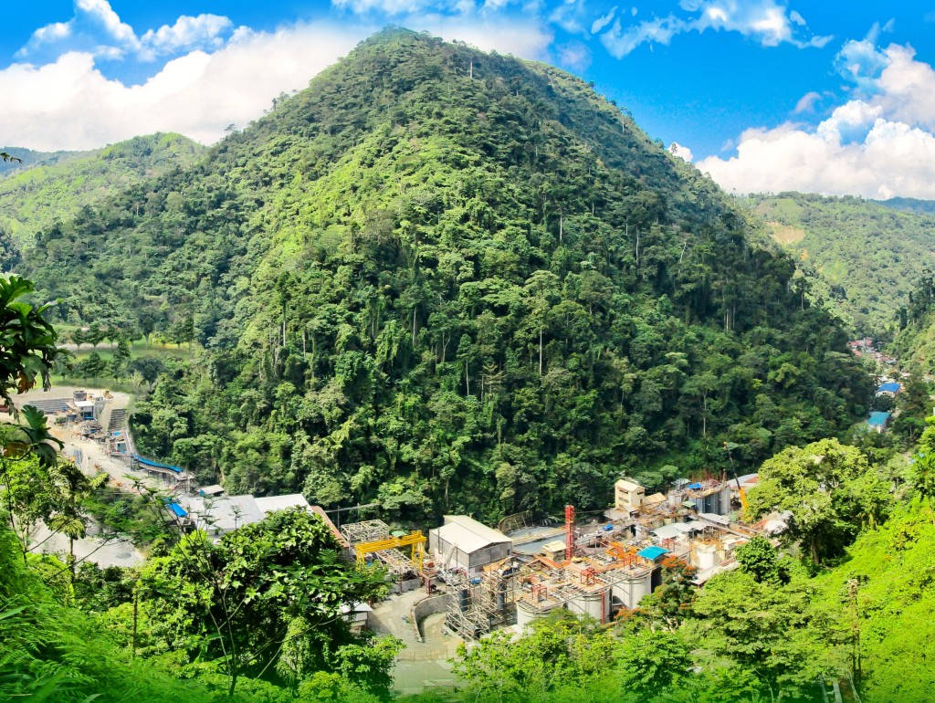
[{"label": "thin wispy cloud at top edge, right of the peak", "polygon": [[[788,12],[775,0],[683,0],[681,7],[698,14],[694,17],[669,14],[628,26],[618,19],[600,36],[601,41],[611,54],[622,58],[641,44],[669,44],[673,36],[684,32],[738,32],[755,38],[764,47],[788,43],[804,49],[823,47],[831,40],[831,36],[800,38],[796,28],[800,31],[805,26],[804,18],[795,10]],[[608,22],[606,16],[598,18],[592,31],[599,32]]]}]

